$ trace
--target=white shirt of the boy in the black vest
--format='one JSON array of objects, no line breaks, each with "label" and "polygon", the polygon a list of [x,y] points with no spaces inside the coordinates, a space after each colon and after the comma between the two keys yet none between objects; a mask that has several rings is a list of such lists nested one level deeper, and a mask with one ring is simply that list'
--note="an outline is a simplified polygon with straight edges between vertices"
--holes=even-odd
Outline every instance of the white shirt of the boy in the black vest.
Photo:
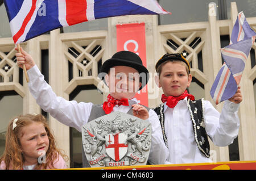
[{"label": "white shirt of the boy in the black vest", "polygon": [[[221,114],[208,100],[203,101],[205,130],[216,146],[233,143],[238,135],[240,120],[239,104],[226,100]],[[187,98],[180,100],[174,108],[164,103],[164,130],[168,140],[168,161],[172,163],[212,162],[197,147]]]}]

